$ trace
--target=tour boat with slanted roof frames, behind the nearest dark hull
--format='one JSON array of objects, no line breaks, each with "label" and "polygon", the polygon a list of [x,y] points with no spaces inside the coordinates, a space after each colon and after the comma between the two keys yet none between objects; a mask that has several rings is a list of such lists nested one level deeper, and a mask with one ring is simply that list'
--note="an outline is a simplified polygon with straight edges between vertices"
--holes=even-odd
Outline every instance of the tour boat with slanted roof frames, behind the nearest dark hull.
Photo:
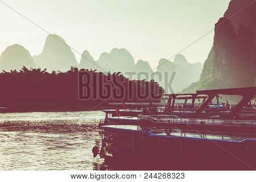
[{"label": "tour boat with slanted roof frames, behind the nearest dark hull", "polygon": [[[256,106],[251,104],[255,98],[256,87],[200,90],[193,94],[165,94],[167,103],[117,103],[115,109],[102,110],[106,117],[105,125],[131,124],[137,125],[140,115],[175,115],[179,118],[201,118],[201,119],[239,119],[255,120]],[[238,104],[229,104],[228,101],[220,102],[222,96],[241,96]],[[212,100],[216,98],[216,102]],[[188,102],[188,101],[191,102]],[[198,102],[196,102],[198,100]],[[183,101],[183,102],[177,102]],[[250,103],[250,104],[249,104]],[[118,106],[125,105],[125,108],[118,109]],[[137,109],[135,109],[137,108]]]}]

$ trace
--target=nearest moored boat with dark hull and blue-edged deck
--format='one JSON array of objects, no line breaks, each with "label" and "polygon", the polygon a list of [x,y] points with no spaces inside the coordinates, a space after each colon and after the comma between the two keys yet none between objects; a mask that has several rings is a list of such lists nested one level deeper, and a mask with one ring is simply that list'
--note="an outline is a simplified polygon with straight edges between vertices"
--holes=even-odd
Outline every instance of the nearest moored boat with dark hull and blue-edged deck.
[{"label": "nearest moored boat with dark hull and blue-edged deck", "polygon": [[255,169],[254,134],[228,134],[128,125],[102,126],[107,163],[126,169]]}]

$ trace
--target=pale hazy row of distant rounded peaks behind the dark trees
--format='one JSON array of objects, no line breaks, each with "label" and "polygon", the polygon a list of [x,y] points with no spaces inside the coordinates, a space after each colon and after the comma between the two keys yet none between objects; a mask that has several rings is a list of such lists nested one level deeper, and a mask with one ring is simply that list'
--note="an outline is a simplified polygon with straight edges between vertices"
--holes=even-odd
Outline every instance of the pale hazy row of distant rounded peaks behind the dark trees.
[{"label": "pale hazy row of distant rounded peaks behind the dark trees", "polygon": [[[166,90],[172,83],[172,89],[180,91],[192,82],[199,80],[201,63],[189,64],[183,55],[177,55],[172,61],[161,59],[156,70],[152,70],[148,61],[135,60],[125,48],[113,48],[112,51],[104,52],[98,60],[94,60],[88,51],[84,51],[78,64],[72,49],[60,36],[48,35],[44,48],[40,55],[31,56],[22,46],[15,44],[7,47],[0,56],[0,69],[5,71],[19,70],[23,66],[27,68],[42,68],[52,71],[68,71],[71,67],[96,69],[97,72],[121,72],[131,80],[154,79]],[[173,72],[176,73],[174,82],[169,79]],[[167,91],[168,92],[168,91]]]}]

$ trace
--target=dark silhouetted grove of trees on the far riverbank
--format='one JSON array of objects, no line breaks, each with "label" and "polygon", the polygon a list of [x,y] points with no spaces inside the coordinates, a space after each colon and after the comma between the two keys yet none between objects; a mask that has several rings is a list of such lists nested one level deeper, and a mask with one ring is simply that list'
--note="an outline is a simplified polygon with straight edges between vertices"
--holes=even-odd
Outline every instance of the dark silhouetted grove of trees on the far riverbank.
[{"label": "dark silhouetted grove of trees on the far riverbank", "polygon": [[[110,97],[102,100],[79,100],[79,72],[86,72],[91,78],[100,77],[100,81],[114,80],[125,88],[122,91],[122,99]],[[93,84],[99,80],[92,80]],[[1,104],[71,104],[71,105],[85,105],[97,106],[108,105],[109,102],[158,102],[163,93],[163,88],[157,82],[151,80],[150,82],[139,80],[131,81],[128,78],[120,75],[120,73],[104,74],[88,69],[78,69],[71,67],[67,72],[48,73],[46,69],[27,69],[23,67],[20,71],[11,71],[0,73],[0,101]],[[115,87],[113,82],[108,82],[112,87]],[[100,84],[102,85],[102,83]],[[131,87],[132,86],[132,87]],[[98,90],[98,89],[97,89]],[[143,98],[138,97],[138,90],[142,90],[146,95]],[[96,90],[93,90],[96,92]],[[128,98],[129,93],[133,92],[133,96]],[[158,99],[151,100],[150,94],[158,96]],[[102,101],[104,103],[102,103]]]}]

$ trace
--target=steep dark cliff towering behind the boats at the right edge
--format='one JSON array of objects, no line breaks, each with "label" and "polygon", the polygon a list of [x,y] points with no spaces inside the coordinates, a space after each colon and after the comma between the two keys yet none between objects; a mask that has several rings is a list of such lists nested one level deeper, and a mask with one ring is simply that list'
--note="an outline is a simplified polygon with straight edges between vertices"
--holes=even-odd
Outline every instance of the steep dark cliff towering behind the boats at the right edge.
[{"label": "steep dark cliff towering behind the boats at the right edge", "polygon": [[215,24],[213,47],[200,80],[183,92],[255,85],[255,10],[254,0],[230,1],[224,17]]}]

